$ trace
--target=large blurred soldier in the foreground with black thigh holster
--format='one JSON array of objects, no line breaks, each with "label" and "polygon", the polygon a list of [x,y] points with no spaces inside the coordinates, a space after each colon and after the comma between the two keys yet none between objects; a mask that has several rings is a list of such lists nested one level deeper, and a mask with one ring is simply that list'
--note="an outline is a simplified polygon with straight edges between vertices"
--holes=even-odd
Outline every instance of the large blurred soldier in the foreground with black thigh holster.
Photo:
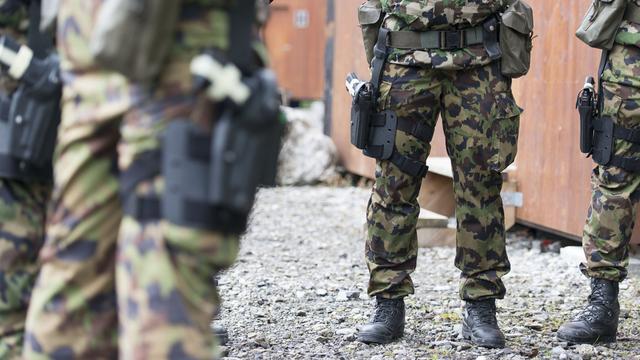
[{"label": "large blurred soldier in the foreground with black thigh holster", "polygon": [[[145,58],[140,50],[131,58],[132,68],[140,59],[162,64],[151,82],[136,86],[106,70],[92,55],[99,16],[107,11],[108,3],[117,2],[60,1],[57,23],[64,77],[63,118],[55,159],[53,211],[41,255],[43,267],[27,318],[24,356],[208,359],[215,353],[210,321],[218,295],[213,277],[235,260],[239,229],[246,224],[246,215],[209,217],[212,209],[207,204],[191,203],[188,210],[196,211],[187,215],[199,218],[188,220],[236,227],[218,231],[192,226],[189,221],[174,222],[170,217],[176,214],[169,214],[170,210],[184,215],[184,203],[171,203],[169,196],[199,190],[207,174],[186,176],[187,186],[174,187],[172,166],[185,166],[184,173],[178,171],[178,181],[184,179],[180,174],[197,166],[183,164],[185,159],[169,160],[169,156],[182,156],[181,151],[186,150],[172,152],[169,147],[184,140],[180,135],[185,131],[212,125],[216,109],[207,96],[194,93],[190,63],[205,50],[219,54],[229,50],[230,7],[236,2],[184,0],[177,9],[169,9],[177,2],[145,3],[155,6],[153,11],[143,9],[149,14],[148,21],[153,21],[149,19],[155,16],[154,11],[178,15],[175,27],[168,21],[158,29],[169,29],[162,42],[155,44],[168,45],[166,57]],[[244,15],[251,18],[249,13]],[[139,21],[125,25],[137,26]],[[114,30],[118,32],[117,27]],[[131,39],[131,33],[125,35]],[[135,40],[140,40],[157,34],[136,35]],[[249,39],[243,40],[248,48]],[[128,44],[120,45],[124,54]],[[205,59],[205,63],[214,62]],[[232,65],[218,70],[229,75],[225,80],[239,80],[240,72]],[[225,91],[235,91],[240,97],[255,94],[253,89],[244,91],[242,83],[236,85]],[[234,114],[226,107],[217,110]],[[174,121],[180,118],[188,121]],[[171,130],[165,131],[168,127]],[[195,149],[199,159],[208,158],[209,143],[195,132],[189,136],[198,140],[187,143],[201,145]],[[167,148],[169,151],[164,151]],[[165,166],[165,161],[171,166]],[[171,190],[165,192],[165,188]]]}]

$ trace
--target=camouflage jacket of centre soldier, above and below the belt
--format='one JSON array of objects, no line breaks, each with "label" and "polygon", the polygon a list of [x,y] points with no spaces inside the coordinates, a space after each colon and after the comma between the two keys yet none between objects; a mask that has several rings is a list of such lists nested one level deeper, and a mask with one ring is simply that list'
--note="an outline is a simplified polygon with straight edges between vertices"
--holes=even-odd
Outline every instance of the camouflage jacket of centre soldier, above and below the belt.
[{"label": "camouflage jacket of centre soldier, above and below the belt", "polygon": [[[387,14],[384,26],[391,30],[464,29],[481,24],[505,9],[510,0],[382,0]],[[460,70],[491,62],[482,45],[466,49],[394,50],[389,61],[400,65]]]}]

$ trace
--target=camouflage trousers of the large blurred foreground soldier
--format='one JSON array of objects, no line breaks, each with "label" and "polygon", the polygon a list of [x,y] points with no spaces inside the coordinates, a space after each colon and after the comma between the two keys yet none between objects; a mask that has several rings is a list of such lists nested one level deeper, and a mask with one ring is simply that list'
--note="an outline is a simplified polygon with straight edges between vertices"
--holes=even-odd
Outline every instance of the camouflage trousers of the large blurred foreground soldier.
[{"label": "camouflage trousers of the large blurred foreground soldier", "polygon": [[[101,75],[66,83],[26,359],[214,357],[213,277],[235,259],[238,238],[123,218],[119,197],[119,172],[157,149],[167,122],[188,115],[194,101],[147,96],[123,116],[124,83]],[[158,175],[136,191],[162,189]]]}]

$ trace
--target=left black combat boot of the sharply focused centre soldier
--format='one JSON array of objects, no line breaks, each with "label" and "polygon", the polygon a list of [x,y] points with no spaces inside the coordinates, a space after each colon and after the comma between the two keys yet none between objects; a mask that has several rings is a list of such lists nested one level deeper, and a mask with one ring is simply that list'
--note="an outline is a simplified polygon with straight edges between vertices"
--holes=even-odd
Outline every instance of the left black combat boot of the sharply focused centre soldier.
[{"label": "left black combat boot of the sharply focused centre soldier", "polygon": [[360,327],[358,341],[388,344],[404,333],[404,299],[376,299],[376,308],[368,324]]}]

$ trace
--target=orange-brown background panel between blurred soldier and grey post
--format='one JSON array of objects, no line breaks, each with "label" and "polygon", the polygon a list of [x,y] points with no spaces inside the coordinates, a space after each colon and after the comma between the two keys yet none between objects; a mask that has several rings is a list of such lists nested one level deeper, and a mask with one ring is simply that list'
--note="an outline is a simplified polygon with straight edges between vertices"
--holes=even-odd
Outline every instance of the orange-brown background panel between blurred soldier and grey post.
[{"label": "orange-brown background panel between blurred soldier and grey post", "polygon": [[327,0],[278,0],[264,37],[280,86],[294,99],[322,99]]}]

